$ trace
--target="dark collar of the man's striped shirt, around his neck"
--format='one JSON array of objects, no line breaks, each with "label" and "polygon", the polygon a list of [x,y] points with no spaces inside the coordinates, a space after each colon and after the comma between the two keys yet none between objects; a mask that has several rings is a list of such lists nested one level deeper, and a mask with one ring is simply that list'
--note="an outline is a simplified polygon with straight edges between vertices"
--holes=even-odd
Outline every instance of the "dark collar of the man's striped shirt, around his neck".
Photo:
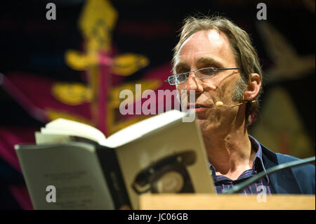
[{"label": "dark collar of the man's striped shirt, around his neck", "polygon": [[[265,171],[265,165],[263,164],[263,158],[262,158],[262,148],[261,144],[256,140],[256,138],[249,136],[249,140],[251,142],[251,147],[256,150],[256,157],[254,158],[254,162],[252,164],[252,169],[254,170],[254,174],[260,173],[262,171]],[[216,180],[216,170],[215,167],[209,162],[209,168],[211,170],[211,174]],[[265,175],[265,179],[267,180],[267,183],[270,184],[270,180],[268,178],[268,175]]]}]

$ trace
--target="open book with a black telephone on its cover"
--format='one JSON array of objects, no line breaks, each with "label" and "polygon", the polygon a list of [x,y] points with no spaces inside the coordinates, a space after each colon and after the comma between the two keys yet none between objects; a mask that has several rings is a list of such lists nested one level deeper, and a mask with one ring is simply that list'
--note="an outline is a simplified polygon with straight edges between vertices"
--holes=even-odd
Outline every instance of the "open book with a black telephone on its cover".
[{"label": "open book with a black telephone on its cover", "polygon": [[199,126],[185,116],[171,110],[109,138],[76,121],[46,124],[36,145],[15,145],[34,209],[138,209],[141,194],[213,193]]}]

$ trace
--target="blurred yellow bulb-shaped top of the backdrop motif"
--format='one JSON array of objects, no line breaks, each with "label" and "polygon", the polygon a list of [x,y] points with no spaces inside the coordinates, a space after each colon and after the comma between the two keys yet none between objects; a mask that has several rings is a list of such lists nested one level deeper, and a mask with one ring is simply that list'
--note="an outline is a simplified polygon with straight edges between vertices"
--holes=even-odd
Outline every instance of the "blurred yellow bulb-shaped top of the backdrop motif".
[{"label": "blurred yellow bulb-shaped top of the backdrop motif", "polygon": [[109,51],[111,48],[111,33],[117,22],[117,11],[107,0],[88,0],[79,18],[79,27],[88,44],[95,50]]}]

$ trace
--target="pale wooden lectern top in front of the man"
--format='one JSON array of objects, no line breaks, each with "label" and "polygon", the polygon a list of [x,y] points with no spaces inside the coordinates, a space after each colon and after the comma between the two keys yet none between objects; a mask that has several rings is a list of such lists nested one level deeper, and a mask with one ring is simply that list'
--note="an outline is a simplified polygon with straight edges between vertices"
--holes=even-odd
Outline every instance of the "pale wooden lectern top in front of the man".
[{"label": "pale wooden lectern top in front of the man", "polygon": [[315,195],[146,194],[140,196],[140,209],[315,210]]}]

